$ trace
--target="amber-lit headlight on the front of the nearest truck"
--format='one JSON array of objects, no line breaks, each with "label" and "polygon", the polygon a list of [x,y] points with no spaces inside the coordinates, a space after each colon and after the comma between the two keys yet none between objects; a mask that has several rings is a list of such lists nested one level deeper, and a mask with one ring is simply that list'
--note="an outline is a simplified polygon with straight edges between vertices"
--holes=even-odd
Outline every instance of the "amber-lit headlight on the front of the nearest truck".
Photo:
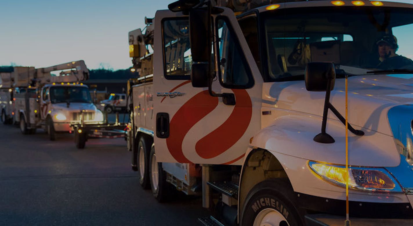
[{"label": "amber-lit headlight on the front of the nearest truck", "polygon": [[[346,186],[346,167],[319,162],[309,162],[309,167],[321,178]],[[382,168],[349,167],[349,188],[368,191],[402,192],[400,186],[392,180],[392,176]]]}]

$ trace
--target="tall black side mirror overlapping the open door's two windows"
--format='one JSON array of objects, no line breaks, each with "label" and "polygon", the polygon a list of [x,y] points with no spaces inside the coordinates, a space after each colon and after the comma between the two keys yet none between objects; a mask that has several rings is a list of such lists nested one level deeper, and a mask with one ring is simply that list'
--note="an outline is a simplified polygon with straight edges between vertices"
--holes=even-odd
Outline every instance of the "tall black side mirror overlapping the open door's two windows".
[{"label": "tall black side mirror overlapping the open door's two windows", "polygon": [[208,87],[211,60],[211,12],[209,7],[190,9],[189,32],[192,55],[192,86]]}]

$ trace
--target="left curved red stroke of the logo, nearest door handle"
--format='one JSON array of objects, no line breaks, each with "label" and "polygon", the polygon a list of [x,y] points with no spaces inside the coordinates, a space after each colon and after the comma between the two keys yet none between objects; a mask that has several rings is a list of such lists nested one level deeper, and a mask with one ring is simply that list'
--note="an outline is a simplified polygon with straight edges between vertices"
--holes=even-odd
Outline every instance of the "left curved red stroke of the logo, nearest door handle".
[{"label": "left curved red stroke of the logo, nearest door handle", "polygon": [[182,151],[182,142],[190,128],[218,106],[218,98],[204,90],[188,100],[171,119],[166,145],[177,162],[190,162]]}]

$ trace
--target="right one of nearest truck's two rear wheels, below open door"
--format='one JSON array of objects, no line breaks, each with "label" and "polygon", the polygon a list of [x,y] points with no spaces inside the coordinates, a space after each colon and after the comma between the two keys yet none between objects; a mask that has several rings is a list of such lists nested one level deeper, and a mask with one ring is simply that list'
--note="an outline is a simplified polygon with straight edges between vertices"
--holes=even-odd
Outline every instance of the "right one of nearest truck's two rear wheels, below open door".
[{"label": "right one of nearest truck's two rear wheels, below open door", "polygon": [[158,202],[165,202],[170,197],[171,186],[166,182],[166,175],[162,169],[162,163],[156,162],[154,145],[152,145],[151,148],[149,162],[152,195]]}]

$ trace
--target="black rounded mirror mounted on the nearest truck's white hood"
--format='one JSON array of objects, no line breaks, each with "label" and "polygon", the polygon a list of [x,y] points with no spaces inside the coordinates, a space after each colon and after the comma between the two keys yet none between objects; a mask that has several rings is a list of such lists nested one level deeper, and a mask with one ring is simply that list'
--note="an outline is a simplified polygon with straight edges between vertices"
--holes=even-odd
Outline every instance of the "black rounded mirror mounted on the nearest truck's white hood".
[{"label": "black rounded mirror mounted on the nearest truck's white hood", "polygon": [[331,79],[330,90],[332,90],[335,81],[334,64],[330,62],[308,63],[304,77],[308,91],[327,91],[329,79]]}]

